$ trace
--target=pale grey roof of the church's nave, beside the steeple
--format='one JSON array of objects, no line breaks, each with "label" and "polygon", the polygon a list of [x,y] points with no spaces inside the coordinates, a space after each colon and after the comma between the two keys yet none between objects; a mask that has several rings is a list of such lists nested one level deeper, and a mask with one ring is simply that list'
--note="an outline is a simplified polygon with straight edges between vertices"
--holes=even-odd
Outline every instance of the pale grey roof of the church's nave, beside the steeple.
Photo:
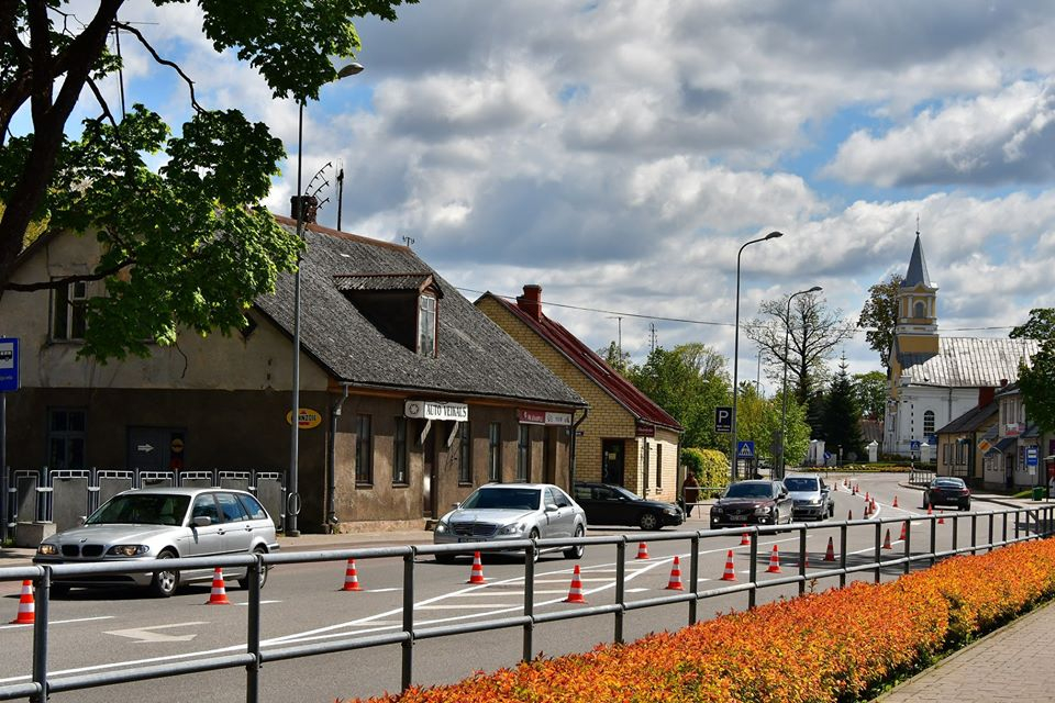
[{"label": "pale grey roof of the church's nave, beside the steeple", "polygon": [[943,388],[1000,386],[1019,377],[1019,360],[1032,358],[1035,339],[940,337],[937,354],[898,354],[902,383]]}]

